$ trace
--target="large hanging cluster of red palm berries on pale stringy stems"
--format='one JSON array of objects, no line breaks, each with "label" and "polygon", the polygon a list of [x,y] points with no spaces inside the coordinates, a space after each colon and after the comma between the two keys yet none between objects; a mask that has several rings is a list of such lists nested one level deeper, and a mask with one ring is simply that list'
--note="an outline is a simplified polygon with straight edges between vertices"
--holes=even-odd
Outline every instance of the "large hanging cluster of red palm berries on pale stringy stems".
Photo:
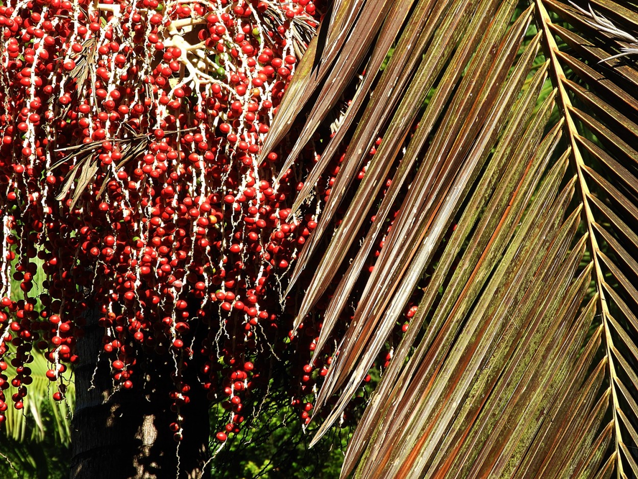
[{"label": "large hanging cluster of red palm berries on pale stringy stems", "polygon": [[242,422],[278,276],[316,225],[289,217],[297,173],[276,184],[278,154],[257,158],[319,15],[308,0],[0,6],[0,358],[15,369],[0,422],[10,384],[22,407],[34,347],[63,399],[89,308],[122,388],[140,351],[174,356],[176,437],[194,354],[227,429]]}]

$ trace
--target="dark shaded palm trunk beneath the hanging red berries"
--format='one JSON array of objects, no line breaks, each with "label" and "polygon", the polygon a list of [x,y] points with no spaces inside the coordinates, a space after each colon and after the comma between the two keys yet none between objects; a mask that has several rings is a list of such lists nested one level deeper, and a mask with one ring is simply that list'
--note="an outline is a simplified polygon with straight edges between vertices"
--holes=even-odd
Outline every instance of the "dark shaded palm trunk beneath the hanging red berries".
[{"label": "dark shaded palm trunk beneath the hanging red berries", "polygon": [[[191,387],[191,402],[182,409],[184,438],[178,454],[168,428],[175,420],[168,398],[175,370],[172,358],[140,354],[137,377],[131,378],[135,386],[109,397],[113,383],[103,354],[96,369],[102,335],[93,317],[77,343],[83,361],[75,368],[71,479],[202,477],[210,432],[205,393]],[[191,376],[188,383],[197,386],[197,366],[191,365],[186,373]]]}]

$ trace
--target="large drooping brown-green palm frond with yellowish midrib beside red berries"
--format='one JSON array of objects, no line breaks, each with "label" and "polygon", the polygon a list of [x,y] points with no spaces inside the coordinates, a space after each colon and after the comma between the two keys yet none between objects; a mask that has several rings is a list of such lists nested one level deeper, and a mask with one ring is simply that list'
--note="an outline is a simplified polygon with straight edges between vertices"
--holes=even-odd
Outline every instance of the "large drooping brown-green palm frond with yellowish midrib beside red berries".
[{"label": "large drooping brown-green palm frond with yellowish midrib beside red berries", "polygon": [[328,298],[318,436],[392,347],[342,476],[637,476],[637,5],[339,5],[270,134],[308,114],[293,165],[353,95],[295,202],[347,146],[288,286],[295,328]]}]

